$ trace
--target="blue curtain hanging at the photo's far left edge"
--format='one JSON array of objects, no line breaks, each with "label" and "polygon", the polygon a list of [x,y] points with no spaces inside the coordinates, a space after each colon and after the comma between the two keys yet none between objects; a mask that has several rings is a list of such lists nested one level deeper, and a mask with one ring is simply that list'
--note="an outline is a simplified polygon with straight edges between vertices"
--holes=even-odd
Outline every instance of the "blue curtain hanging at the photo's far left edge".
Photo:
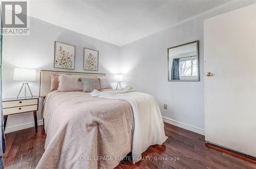
[{"label": "blue curtain hanging at the photo's far left edge", "polygon": [[[0,9],[1,14],[1,9]],[[3,51],[3,34],[2,34],[2,15],[1,15],[1,26],[0,26],[0,123],[1,123],[1,130],[0,130],[0,169],[4,168],[4,156],[3,153],[5,152],[5,131],[3,125],[3,112],[2,112],[2,51]]]}]

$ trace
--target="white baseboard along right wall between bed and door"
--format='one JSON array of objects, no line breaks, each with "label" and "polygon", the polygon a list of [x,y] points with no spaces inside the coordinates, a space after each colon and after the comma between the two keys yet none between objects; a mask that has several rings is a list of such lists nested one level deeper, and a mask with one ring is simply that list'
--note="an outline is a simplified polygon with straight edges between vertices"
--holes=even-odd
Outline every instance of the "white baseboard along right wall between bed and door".
[{"label": "white baseboard along right wall between bed and door", "polygon": [[180,127],[180,128],[183,128],[183,129],[186,129],[186,130],[193,131],[195,133],[204,135],[204,129],[194,127],[194,126],[190,126],[188,124],[184,124],[184,123],[181,123],[181,122],[178,122],[176,120],[169,119],[169,118],[166,118],[166,117],[162,117],[162,118],[163,118],[163,121],[166,122],[166,123],[169,123],[169,124],[175,125],[177,127]]}]

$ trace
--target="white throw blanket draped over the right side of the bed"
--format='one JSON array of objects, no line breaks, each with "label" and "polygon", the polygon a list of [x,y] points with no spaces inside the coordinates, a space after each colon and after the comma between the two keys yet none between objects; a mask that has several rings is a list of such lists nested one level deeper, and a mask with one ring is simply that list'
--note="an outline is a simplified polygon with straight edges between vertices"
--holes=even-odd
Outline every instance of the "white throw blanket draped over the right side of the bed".
[{"label": "white throw blanket draped over the right side of the bed", "polygon": [[100,92],[94,90],[93,97],[121,99],[129,102],[134,114],[133,163],[139,161],[141,153],[149,146],[163,144],[168,138],[156,99],[146,93],[137,92],[130,86],[122,90]]}]

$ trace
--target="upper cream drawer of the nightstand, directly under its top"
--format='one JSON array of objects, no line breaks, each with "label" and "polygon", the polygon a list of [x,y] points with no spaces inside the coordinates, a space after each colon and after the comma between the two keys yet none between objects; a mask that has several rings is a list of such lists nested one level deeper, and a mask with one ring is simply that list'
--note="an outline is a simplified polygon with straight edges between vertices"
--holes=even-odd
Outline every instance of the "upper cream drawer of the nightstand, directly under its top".
[{"label": "upper cream drawer of the nightstand, directly under its top", "polygon": [[15,100],[15,101],[4,101],[3,108],[9,107],[18,107],[18,106],[26,106],[26,105],[33,105],[37,104],[38,99],[27,99],[27,100]]}]

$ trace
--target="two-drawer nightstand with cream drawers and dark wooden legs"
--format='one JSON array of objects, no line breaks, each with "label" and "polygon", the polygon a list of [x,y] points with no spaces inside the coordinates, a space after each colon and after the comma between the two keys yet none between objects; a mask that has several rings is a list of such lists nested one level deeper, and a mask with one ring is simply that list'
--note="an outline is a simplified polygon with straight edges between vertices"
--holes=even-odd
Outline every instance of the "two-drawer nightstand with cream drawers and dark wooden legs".
[{"label": "two-drawer nightstand with cream drawers and dark wooden legs", "polygon": [[33,111],[35,132],[37,132],[37,115],[39,97],[19,97],[3,99],[3,115],[4,115],[4,128],[6,127],[7,118],[9,115],[22,114],[24,112]]}]

